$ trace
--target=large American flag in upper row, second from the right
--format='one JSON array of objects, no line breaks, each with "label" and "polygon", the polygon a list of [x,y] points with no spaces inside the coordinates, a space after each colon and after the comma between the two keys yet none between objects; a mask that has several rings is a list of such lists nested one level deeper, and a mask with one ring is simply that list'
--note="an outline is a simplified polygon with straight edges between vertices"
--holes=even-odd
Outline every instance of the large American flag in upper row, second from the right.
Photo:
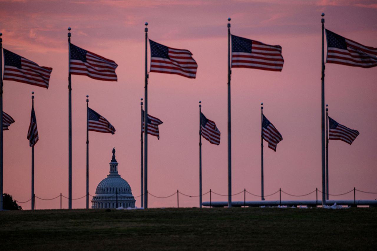
[{"label": "large American flag in upper row, second from the right", "polygon": [[282,71],[284,59],[281,46],[264,44],[234,35],[231,35],[231,38],[232,68]]}]

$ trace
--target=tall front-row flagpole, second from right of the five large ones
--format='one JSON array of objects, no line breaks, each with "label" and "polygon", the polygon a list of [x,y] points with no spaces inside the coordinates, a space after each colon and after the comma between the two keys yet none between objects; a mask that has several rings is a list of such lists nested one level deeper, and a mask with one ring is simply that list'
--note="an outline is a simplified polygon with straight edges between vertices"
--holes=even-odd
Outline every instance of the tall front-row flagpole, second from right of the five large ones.
[{"label": "tall front-row flagpole, second from right of the five large ones", "polygon": [[228,207],[232,207],[232,162],[231,162],[231,126],[230,126],[230,17],[228,17]]}]

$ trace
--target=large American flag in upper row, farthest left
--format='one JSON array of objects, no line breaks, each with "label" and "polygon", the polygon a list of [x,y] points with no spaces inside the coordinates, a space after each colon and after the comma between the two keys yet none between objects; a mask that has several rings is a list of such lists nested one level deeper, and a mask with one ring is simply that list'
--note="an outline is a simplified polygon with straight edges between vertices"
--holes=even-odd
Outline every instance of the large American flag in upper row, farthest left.
[{"label": "large American flag in upper row, farthest left", "polygon": [[52,68],[23,58],[4,49],[4,80],[48,88]]}]

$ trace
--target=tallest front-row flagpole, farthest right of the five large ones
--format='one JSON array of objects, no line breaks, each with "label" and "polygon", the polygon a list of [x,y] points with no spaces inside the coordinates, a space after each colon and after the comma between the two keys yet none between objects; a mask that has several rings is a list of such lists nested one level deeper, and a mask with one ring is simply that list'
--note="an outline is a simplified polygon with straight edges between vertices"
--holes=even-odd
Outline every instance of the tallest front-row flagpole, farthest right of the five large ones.
[{"label": "tallest front-row flagpole, farthest right of the five large ones", "polygon": [[322,19],[322,99],[321,99],[321,148],[322,148],[322,206],[326,204],[326,184],[325,184],[325,56],[324,56],[324,41],[323,33],[325,30],[325,13],[321,14]]}]

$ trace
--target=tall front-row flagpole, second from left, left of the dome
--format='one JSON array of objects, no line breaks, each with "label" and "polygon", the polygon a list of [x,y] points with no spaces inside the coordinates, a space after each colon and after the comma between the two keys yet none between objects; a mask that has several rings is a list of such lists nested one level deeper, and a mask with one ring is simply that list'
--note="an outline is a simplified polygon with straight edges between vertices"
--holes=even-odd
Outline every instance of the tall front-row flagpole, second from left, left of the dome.
[{"label": "tall front-row flagpole, second from left, left of the dome", "polygon": [[72,209],[72,88],[70,76],[70,30],[68,27],[68,209]]}]

